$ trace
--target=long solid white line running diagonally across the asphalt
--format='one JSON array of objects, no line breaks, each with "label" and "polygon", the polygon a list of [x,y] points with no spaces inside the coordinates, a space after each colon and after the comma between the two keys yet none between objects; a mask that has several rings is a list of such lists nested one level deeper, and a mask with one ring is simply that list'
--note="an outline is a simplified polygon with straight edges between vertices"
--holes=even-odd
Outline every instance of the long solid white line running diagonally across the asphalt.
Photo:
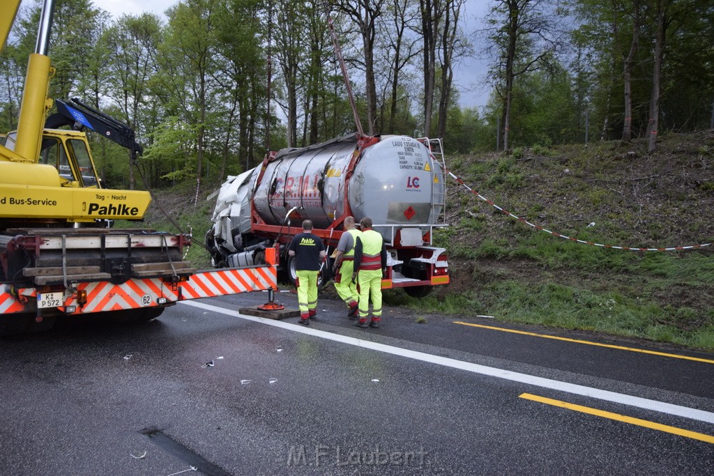
[{"label": "long solid white line running diagonally across the asphalt", "polygon": [[238,313],[235,310],[221,308],[215,305],[196,303],[195,301],[181,301],[181,304],[191,305],[195,308],[200,308],[203,310],[210,310],[214,313],[232,315],[245,320],[252,320],[256,323],[272,325],[276,328],[283,328],[297,333],[313,335],[322,339],[334,340],[336,342],[354,345],[356,347],[377,350],[383,353],[401,355],[402,357],[411,358],[414,360],[421,360],[422,362],[443,365],[444,367],[466,370],[467,372],[488,375],[490,377],[503,378],[504,380],[511,380],[513,382],[535,385],[537,387],[542,388],[550,388],[551,390],[558,390],[560,392],[583,395],[584,397],[597,398],[599,400],[620,403],[623,405],[630,405],[632,407],[638,407],[644,410],[653,410],[655,412],[667,413],[668,415],[675,415],[678,417],[685,417],[690,418],[691,420],[698,420],[700,422],[714,424],[714,413],[707,412],[705,410],[697,410],[695,408],[683,407],[681,405],[673,405],[672,403],[658,402],[657,400],[635,397],[633,395],[626,395],[624,393],[610,392],[609,390],[599,390],[597,388],[585,387],[585,385],[576,385],[573,383],[560,382],[559,380],[551,380],[549,378],[535,377],[534,375],[512,372],[511,370],[487,367],[486,365],[479,365],[475,363],[465,362],[463,360],[456,360],[452,358],[441,357],[439,355],[418,352],[416,350],[394,347],[393,345],[380,344],[376,342],[371,342],[370,340],[362,340],[353,337],[348,337],[346,335],[328,333],[324,330],[306,328],[296,323],[293,324],[283,322],[281,320],[257,318],[252,315],[244,315]]}]

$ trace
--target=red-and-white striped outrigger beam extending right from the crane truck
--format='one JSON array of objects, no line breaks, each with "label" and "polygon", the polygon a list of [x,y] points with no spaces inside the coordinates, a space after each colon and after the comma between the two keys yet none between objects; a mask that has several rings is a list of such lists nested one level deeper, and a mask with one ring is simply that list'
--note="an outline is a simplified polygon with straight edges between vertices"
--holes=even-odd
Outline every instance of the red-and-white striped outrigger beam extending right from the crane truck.
[{"label": "red-and-white striped outrigger beam extending right from the crane truck", "polygon": [[180,283],[180,300],[212,298],[275,288],[278,282],[277,275],[274,266],[196,273],[188,281]]}]

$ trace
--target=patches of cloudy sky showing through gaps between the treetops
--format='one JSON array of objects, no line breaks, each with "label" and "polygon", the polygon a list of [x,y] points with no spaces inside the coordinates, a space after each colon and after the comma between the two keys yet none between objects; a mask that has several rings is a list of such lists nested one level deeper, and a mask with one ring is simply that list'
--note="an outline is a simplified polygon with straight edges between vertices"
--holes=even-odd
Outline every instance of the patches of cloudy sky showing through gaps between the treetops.
[{"label": "patches of cloudy sky showing through gaps between the treetops", "polygon": [[[164,11],[178,3],[178,0],[94,0],[94,3],[115,17],[122,14],[140,15],[144,11],[163,16]],[[467,35],[471,36],[478,29],[479,19],[486,14],[490,3],[488,0],[466,0],[463,26]],[[474,43],[474,39],[471,42]],[[478,51],[478,44],[476,49]],[[466,59],[454,69],[454,83],[461,92],[461,107],[473,108],[486,104],[488,88],[483,87],[482,83],[487,70],[486,62],[478,58]]]}]

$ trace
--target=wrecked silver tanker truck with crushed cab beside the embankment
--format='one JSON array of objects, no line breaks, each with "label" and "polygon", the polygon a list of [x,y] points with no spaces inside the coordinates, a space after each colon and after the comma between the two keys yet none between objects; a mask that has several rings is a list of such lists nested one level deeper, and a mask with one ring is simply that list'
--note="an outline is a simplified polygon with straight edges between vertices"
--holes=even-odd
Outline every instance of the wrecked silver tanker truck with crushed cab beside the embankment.
[{"label": "wrecked silver tanker truck with crushed cab beside the embankment", "polygon": [[[449,282],[446,250],[432,245],[436,228],[446,226],[445,170],[440,140],[407,136],[353,134],[268,153],[261,166],[228,177],[217,192],[206,233],[213,265],[260,265],[273,248],[294,283],[287,248],[303,220],[313,221],[329,256],[344,219],[368,216],[388,251],[382,288],[425,296]],[[328,258],[320,285],[330,278],[330,264]]]}]

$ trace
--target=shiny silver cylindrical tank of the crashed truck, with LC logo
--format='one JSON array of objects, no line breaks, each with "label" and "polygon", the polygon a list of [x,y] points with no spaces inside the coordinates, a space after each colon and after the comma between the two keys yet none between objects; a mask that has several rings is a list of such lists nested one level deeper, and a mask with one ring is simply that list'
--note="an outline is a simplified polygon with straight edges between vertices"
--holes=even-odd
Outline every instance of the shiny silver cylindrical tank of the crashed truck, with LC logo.
[{"label": "shiny silver cylindrical tank of the crashed truck, with LC logo", "polygon": [[[356,138],[349,137],[278,154],[254,193],[256,210],[266,222],[278,224],[298,206],[301,217],[316,228],[328,227],[346,211],[345,179],[356,148]],[[411,137],[382,136],[366,147],[347,186],[348,206],[357,220],[433,223],[441,211],[433,206],[433,197],[443,195],[441,166]]]}]

